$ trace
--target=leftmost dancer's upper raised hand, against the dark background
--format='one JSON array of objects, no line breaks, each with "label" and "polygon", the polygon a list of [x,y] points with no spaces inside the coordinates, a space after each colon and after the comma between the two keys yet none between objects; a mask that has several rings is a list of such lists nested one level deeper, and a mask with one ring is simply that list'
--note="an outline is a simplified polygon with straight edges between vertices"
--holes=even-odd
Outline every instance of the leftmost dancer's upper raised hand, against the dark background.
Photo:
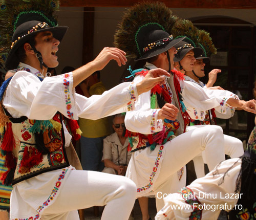
[{"label": "leftmost dancer's upper raised hand, against the dark background", "polygon": [[125,64],[127,59],[126,53],[118,48],[103,48],[99,55],[91,62],[97,70],[102,70],[110,60],[116,60],[119,67]]}]

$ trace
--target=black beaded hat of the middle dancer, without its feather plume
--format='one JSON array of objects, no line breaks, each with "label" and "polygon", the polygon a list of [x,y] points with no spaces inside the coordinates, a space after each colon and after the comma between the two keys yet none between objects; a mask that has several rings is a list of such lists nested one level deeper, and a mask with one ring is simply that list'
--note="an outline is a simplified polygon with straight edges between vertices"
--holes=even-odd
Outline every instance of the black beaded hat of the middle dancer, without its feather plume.
[{"label": "black beaded hat of the middle dancer, without its feather plume", "polygon": [[[155,30],[154,30],[155,29]],[[148,31],[150,30],[150,31]],[[167,32],[160,30],[159,27],[145,27],[140,29],[137,35],[137,47],[140,51],[141,56],[135,59],[142,60],[157,56],[172,47],[175,47],[183,38],[174,39],[172,35]]]}]

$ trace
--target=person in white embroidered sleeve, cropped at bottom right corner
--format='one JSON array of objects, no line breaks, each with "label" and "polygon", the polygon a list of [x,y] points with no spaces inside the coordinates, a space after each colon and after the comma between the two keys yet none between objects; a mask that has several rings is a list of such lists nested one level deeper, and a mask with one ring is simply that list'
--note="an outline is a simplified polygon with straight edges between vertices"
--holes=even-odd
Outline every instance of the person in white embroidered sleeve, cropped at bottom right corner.
[{"label": "person in white embroidered sleeve, cropped at bottom right corner", "polygon": [[255,219],[255,170],[256,126],[242,157],[221,162],[205,177],[195,180],[178,193],[166,196],[165,206],[155,219],[216,220],[222,209],[228,212],[228,219]]}]

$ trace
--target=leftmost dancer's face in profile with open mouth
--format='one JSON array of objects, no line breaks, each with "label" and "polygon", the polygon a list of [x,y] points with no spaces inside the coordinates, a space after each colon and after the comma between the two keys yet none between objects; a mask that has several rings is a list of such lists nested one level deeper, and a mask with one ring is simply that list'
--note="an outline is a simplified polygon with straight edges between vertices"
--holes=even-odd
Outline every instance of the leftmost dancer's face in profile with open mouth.
[{"label": "leftmost dancer's face in profile with open mouth", "polygon": [[52,32],[40,32],[35,36],[35,48],[42,55],[42,60],[48,67],[54,68],[59,64],[58,57],[55,55],[58,51],[59,40],[53,37]]}]

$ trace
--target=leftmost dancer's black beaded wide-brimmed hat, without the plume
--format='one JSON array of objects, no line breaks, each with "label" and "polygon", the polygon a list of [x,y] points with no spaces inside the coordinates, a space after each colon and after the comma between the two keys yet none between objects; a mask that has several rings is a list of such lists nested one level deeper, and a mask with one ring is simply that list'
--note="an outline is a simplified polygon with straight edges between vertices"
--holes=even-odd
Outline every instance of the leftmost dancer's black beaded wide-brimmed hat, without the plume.
[{"label": "leftmost dancer's black beaded wide-brimmed hat, without the plume", "polygon": [[12,36],[11,50],[6,58],[5,68],[14,70],[18,67],[20,60],[15,52],[37,33],[50,31],[53,37],[61,41],[67,29],[67,26],[50,27],[47,23],[38,20],[30,20],[18,26]]}]

